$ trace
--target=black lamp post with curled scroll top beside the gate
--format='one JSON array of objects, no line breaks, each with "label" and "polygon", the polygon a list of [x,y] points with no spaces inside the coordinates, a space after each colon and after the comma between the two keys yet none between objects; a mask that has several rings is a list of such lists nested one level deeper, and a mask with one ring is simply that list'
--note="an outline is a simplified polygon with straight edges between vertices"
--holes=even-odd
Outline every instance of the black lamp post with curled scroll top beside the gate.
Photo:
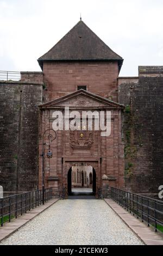
[{"label": "black lamp post with curled scroll top beside the gate", "polygon": [[42,135],[42,204],[45,203],[45,181],[44,181],[44,145],[46,145],[46,143],[44,142],[44,137],[46,135],[46,132],[53,132],[53,134],[49,134],[48,135],[48,139],[49,139],[49,149],[48,149],[48,152],[47,152],[47,157],[50,159],[52,158],[53,156],[53,153],[51,151],[51,142],[54,141],[54,139],[57,138],[57,133],[53,130],[53,129],[47,129],[43,135]]}]

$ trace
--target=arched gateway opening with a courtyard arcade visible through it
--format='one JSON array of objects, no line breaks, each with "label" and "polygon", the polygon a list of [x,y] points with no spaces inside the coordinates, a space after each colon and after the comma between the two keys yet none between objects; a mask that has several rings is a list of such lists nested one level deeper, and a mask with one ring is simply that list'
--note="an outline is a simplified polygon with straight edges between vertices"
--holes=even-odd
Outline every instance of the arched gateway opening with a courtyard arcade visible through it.
[{"label": "arched gateway opening with a courtyard arcade visible through it", "polygon": [[96,195],[96,171],[87,163],[74,164],[67,173],[68,196]]}]

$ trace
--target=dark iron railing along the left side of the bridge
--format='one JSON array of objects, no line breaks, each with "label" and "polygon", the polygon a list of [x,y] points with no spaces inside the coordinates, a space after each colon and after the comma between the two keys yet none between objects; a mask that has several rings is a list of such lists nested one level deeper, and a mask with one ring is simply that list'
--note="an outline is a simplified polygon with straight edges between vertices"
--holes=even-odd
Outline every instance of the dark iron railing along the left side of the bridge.
[{"label": "dark iron railing along the left side of the bridge", "polygon": [[[51,188],[45,189],[45,202],[52,199],[53,191]],[[42,204],[42,190],[27,193],[15,194],[14,196],[0,199],[0,225],[11,222],[12,218],[17,218],[27,211]]]}]

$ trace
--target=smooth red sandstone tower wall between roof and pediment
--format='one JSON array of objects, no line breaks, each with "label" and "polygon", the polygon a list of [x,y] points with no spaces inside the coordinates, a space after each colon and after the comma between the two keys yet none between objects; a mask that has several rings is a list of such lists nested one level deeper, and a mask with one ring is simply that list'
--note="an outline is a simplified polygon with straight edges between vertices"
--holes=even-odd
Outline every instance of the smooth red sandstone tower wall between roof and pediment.
[{"label": "smooth red sandstone tower wall between roof and pediment", "polygon": [[44,82],[47,88],[45,101],[53,100],[87,86],[91,93],[117,101],[117,62],[100,63],[50,63],[43,64]]}]

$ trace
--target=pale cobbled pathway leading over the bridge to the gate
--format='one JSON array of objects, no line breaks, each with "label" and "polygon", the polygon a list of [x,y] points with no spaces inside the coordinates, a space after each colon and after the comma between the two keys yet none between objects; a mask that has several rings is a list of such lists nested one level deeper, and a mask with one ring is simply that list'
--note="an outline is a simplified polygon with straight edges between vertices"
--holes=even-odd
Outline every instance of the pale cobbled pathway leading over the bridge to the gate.
[{"label": "pale cobbled pathway leading over the bridge to the gate", "polygon": [[2,245],[142,245],[104,200],[59,200]]}]

